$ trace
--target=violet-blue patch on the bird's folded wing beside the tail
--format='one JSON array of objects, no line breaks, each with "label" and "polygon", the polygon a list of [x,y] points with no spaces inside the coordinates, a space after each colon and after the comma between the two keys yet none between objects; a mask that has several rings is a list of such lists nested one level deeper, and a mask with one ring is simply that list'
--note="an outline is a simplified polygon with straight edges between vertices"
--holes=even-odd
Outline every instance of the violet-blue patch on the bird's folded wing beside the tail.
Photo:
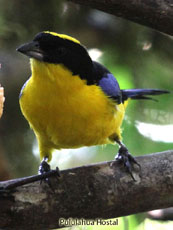
[{"label": "violet-blue patch on the bird's folded wing beside the tail", "polygon": [[111,73],[105,73],[99,80],[98,85],[104,93],[114,99],[117,103],[121,103],[122,96],[118,81]]}]

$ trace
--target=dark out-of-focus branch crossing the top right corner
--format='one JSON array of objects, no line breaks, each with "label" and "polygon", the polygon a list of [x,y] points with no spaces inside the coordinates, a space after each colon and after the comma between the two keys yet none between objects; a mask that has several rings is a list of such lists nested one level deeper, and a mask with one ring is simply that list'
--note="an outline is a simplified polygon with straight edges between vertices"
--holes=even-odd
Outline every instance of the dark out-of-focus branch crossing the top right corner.
[{"label": "dark out-of-focus branch crossing the top right corner", "polygon": [[173,35],[172,0],[68,0]]}]

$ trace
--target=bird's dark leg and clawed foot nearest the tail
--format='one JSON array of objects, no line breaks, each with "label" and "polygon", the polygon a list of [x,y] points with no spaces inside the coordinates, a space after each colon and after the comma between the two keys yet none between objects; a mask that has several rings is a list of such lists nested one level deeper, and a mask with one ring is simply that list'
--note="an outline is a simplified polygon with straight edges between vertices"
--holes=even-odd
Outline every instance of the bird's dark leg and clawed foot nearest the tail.
[{"label": "bird's dark leg and clawed foot nearest the tail", "polygon": [[120,146],[118,154],[115,156],[115,160],[123,163],[124,167],[127,169],[129,174],[131,175],[132,179],[135,181],[135,178],[134,178],[134,176],[132,174],[132,165],[136,164],[139,167],[141,167],[141,166],[135,160],[135,158],[129,153],[127,147],[120,140],[115,140],[115,141]]}]

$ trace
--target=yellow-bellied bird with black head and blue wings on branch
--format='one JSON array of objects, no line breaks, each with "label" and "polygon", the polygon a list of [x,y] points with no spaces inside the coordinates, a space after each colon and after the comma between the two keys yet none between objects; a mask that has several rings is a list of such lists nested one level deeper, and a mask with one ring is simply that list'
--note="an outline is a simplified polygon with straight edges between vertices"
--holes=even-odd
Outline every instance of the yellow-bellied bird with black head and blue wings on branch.
[{"label": "yellow-bellied bird with black head and blue wings on branch", "polygon": [[134,179],[132,167],[139,163],[121,134],[127,104],[169,91],[120,89],[115,76],[69,35],[39,32],[17,51],[30,58],[31,76],[21,89],[19,103],[38,141],[39,173],[50,170],[54,149],[117,143],[115,159]]}]

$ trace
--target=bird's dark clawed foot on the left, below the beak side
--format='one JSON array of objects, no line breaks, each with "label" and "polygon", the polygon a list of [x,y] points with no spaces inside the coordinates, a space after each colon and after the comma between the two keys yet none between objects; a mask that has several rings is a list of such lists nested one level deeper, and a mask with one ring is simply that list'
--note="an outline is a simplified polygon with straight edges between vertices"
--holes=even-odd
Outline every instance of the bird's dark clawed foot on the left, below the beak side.
[{"label": "bird's dark clawed foot on the left, below the beak side", "polygon": [[[38,174],[43,175],[43,174],[48,173],[50,171],[55,171],[55,170],[51,169],[51,167],[47,163],[47,161],[48,161],[48,158],[44,157],[42,162],[41,162],[41,164],[40,164],[40,166],[39,166]],[[57,178],[59,178],[60,177],[60,171],[59,171],[58,167],[56,167],[56,171],[57,171],[57,174],[56,174]],[[42,179],[40,183],[42,183],[43,181],[45,181],[49,185],[49,187],[53,190],[52,184],[50,182],[50,178],[46,177],[45,179]]]}]

